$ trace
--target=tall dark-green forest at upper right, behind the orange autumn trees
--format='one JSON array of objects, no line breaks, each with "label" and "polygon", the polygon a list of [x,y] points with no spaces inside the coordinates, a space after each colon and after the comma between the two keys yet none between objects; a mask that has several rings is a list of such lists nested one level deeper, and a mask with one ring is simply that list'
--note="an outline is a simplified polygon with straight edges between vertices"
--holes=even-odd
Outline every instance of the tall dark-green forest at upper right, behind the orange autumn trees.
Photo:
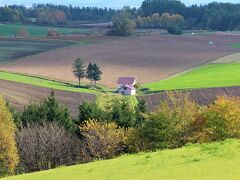
[{"label": "tall dark-green forest at upper right, behind the orange autumn trees", "polygon": [[240,4],[210,3],[185,6],[178,0],[145,0],[139,9],[142,17],[155,13],[179,14],[186,29],[234,30],[240,26]]}]

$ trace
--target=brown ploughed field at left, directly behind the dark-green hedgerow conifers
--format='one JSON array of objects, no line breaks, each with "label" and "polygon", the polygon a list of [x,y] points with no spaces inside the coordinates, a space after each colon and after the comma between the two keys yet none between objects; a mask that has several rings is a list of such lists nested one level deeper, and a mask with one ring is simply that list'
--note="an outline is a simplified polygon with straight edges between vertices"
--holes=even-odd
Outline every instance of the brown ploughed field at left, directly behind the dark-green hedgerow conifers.
[{"label": "brown ploughed field at left, directly behind the dark-green hedgerow conifers", "polygon": [[[16,82],[0,80],[0,95],[2,95],[17,110],[22,110],[24,106],[35,104],[47,98],[51,89],[21,84]],[[67,106],[71,115],[78,115],[78,106],[83,101],[93,102],[96,100],[94,94],[75,93],[67,91],[54,90],[56,98],[61,104]]]}]

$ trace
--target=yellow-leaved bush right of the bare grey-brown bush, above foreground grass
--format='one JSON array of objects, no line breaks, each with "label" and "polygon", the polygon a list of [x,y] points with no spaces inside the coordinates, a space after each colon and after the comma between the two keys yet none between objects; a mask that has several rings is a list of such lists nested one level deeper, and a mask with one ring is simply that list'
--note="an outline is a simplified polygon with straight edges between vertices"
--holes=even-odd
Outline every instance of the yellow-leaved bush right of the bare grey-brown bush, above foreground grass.
[{"label": "yellow-leaved bush right of the bare grey-brown bush, above foreground grass", "polygon": [[80,128],[83,142],[92,159],[109,159],[124,150],[125,131],[116,123],[86,121]]}]

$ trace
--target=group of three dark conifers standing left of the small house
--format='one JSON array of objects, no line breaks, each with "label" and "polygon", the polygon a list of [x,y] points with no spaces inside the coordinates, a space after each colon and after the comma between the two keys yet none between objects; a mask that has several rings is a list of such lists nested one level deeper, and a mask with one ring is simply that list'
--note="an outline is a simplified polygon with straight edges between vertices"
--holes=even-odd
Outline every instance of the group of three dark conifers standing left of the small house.
[{"label": "group of three dark conifers standing left of the small house", "polygon": [[90,80],[90,85],[94,82],[97,85],[97,81],[101,80],[102,71],[97,64],[89,63],[87,70],[85,70],[84,62],[81,58],[77,58],[73,64],[73,74],[78,79],[79,86],[81,85],[81,79],[86,78]]}]

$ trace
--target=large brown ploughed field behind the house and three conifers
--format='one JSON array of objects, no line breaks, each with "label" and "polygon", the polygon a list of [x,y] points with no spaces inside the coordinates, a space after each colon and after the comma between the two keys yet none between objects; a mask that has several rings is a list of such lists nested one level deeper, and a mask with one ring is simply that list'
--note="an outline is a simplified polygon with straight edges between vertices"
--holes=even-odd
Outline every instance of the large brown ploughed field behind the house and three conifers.
[{"label": "large brown ploughed field behind the house and three conifers", "polygon": [[[209,45],[209,41],[215,45]],[[135,76],[140,83],[158,81],[181,71],[235,53],[227,44],[239,43],[240,36],[151,35],[117,38],[96,44],[61,48],[19,59],[0,66],[1,70],[76,81],[74,59],[95,62],[102,68],[101,84],[115,87],[119,76]]]}]

